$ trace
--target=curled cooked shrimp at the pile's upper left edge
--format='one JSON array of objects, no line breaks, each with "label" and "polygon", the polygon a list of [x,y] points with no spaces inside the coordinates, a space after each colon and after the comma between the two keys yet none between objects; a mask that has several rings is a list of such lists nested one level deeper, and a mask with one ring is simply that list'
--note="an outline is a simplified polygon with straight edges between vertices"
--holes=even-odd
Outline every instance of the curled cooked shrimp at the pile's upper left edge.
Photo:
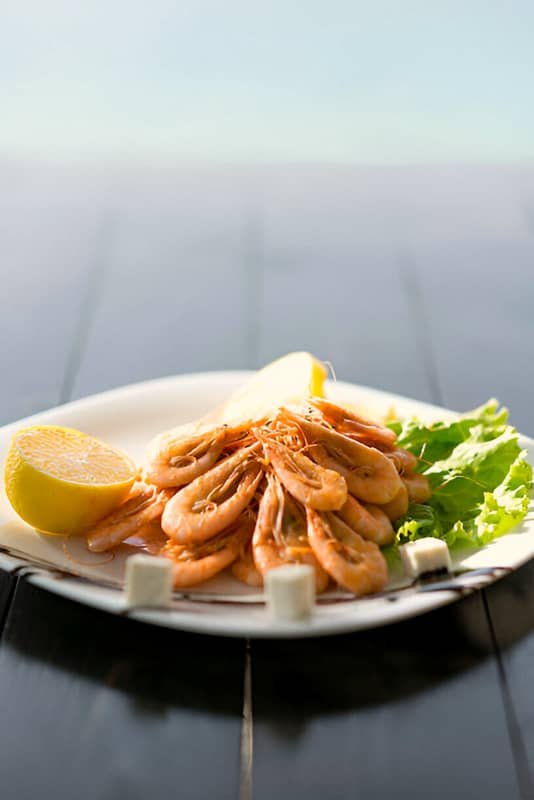
[{"label": "curled cooked shrimp at the pile's upper left edge", "polygon": [[184,425],[158,437],[150,447],[143,477],[155,486],[185,486],[207,472],[219,458],[227,437],[224,427],[191,433]]}]

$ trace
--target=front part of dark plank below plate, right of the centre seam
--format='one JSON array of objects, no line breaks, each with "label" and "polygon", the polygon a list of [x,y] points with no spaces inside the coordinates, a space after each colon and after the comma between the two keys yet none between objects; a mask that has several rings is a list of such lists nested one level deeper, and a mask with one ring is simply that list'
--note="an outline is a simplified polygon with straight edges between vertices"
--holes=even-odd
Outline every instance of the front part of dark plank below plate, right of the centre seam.
[{"label": "front part of dark plank below plate, right of the centre seam", "polygon": [[519,797],[483,619],[254,643],[254,798]]}]

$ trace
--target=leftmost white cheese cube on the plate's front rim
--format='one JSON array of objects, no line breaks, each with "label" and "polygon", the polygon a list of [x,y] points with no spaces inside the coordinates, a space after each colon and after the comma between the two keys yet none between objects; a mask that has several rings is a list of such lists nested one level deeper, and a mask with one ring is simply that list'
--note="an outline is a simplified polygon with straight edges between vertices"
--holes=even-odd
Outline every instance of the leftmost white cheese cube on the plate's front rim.
[{"label": "leftmost white cheese cube on the plate's front rim", "polygon": [[139,553],[126,561],[126,602],[131,608],[168,606],[172,596],[172,561]]}]

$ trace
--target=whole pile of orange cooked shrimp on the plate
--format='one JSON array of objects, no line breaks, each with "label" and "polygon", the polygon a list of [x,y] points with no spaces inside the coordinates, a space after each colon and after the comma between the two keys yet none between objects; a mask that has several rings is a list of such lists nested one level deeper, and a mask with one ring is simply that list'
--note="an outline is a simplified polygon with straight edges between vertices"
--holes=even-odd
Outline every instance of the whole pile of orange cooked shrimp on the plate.
[{"label": "whole pile of orange cooked shrimp on the plate", "polygon": [[410,502],[430,497],[395,434],[310,398],[246,425],[160,436],[126,500],[87,537],[92,552],[134,545],[173,562],[174,586],[227,567],[249,586],[282,564],[313,566],[317,592],[388,581],[380,548]]}]

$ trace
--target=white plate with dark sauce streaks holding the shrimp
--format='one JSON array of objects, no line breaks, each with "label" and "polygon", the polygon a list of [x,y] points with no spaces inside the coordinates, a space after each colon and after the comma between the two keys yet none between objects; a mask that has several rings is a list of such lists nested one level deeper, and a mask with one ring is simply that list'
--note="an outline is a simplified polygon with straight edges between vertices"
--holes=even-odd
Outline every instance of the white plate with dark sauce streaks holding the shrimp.
[{"label": "white plate with dark sauce streaks holding the shrimp", "polygon": [[[4,460],[13,432],[35,423],[79,428],[141,460],[153,435],[202,416],[222,403],[249,374],[214,372],[164,378],[36,414],[0,429],[0,461]],[[329,383],[327,394],[334,399],[361,403],[378,413],[385,413],[393,406],[401,416],[417,415],[428,420],[453,416],[453,412],[435,406],[348,383]],[[521,444],[529,450],[532,460],[534,441],[521,437]],[[0,492],[0,547],[3,549],[1,568],[19,570],[31,583],[56,594],[110,613],[128,613],[154,625],[224,636],[300,637],[346,633],[413,617],[461,596],[457,589],[422,592],[418,590],[421,587],[361,599],[348,599],[341,593],[334,593],[318,602],[310,620],[281,623],[270,617],[257,590],[224,574],[186,595],[177,593],[169,609],[128,612],[120,586],[126,556],[132,552],[130,548],[123,548],[111,562],[102,563],[105,558],[89,554],[81,540],[66,541],[63,537],[39,535],[16,517],[3,490]],[[531,505],[526,520],[513,533],[476,552],[456,554],[453,561],[455,567],[462,568],[515,569],[533,555]],[[47,565],[57,569],[47,568]],[[503,574],[504,571],[498,575],[463,575],[456,582],[469,591]],[[402,584],[402,576],[391,576],[389,588]]]}]

